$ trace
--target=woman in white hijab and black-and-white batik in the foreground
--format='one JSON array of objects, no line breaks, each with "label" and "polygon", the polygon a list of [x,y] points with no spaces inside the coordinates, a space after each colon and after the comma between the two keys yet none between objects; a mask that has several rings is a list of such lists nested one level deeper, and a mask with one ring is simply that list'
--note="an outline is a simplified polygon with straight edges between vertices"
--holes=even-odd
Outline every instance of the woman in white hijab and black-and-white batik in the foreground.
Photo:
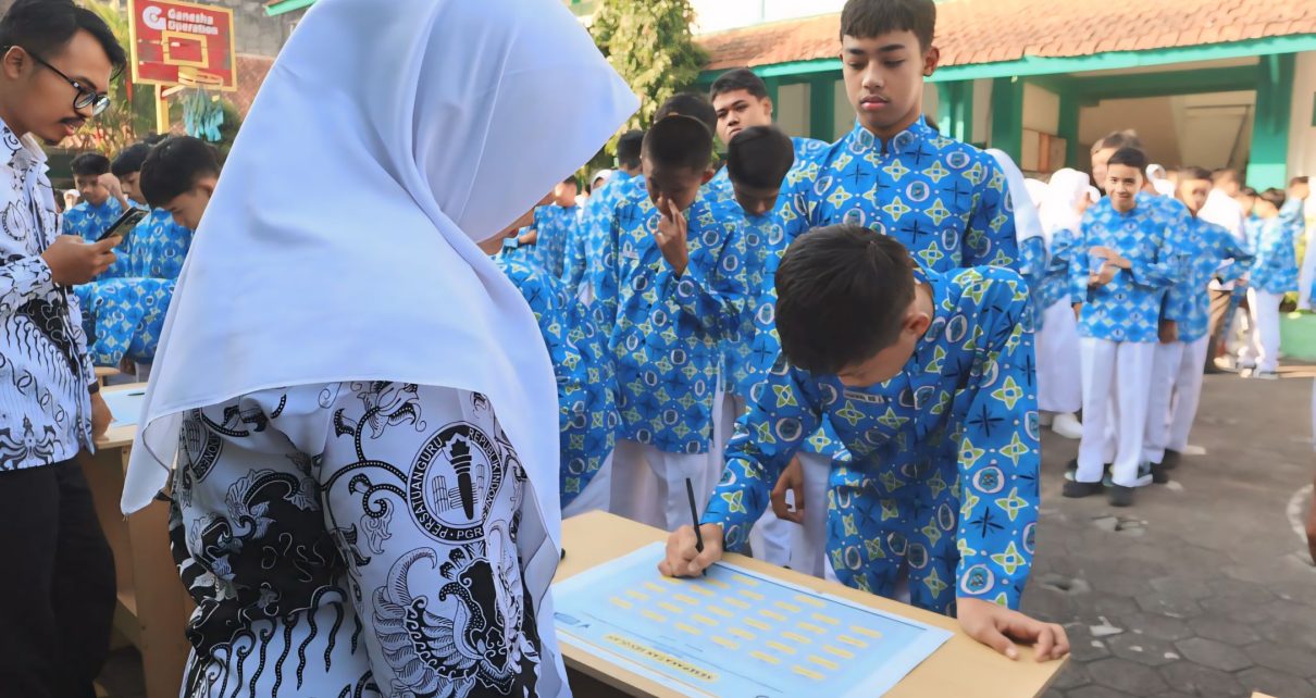
[{"label": "woman in white hijab and black-and-white batik in the foreground", "polygon": [[[178,452],[184,695],[570,693],[553,369],[476,243],[636,106],[557,0],[311,9],[179,279],[124,492]],[[305,172],[325,196],[291,196]]]}]

